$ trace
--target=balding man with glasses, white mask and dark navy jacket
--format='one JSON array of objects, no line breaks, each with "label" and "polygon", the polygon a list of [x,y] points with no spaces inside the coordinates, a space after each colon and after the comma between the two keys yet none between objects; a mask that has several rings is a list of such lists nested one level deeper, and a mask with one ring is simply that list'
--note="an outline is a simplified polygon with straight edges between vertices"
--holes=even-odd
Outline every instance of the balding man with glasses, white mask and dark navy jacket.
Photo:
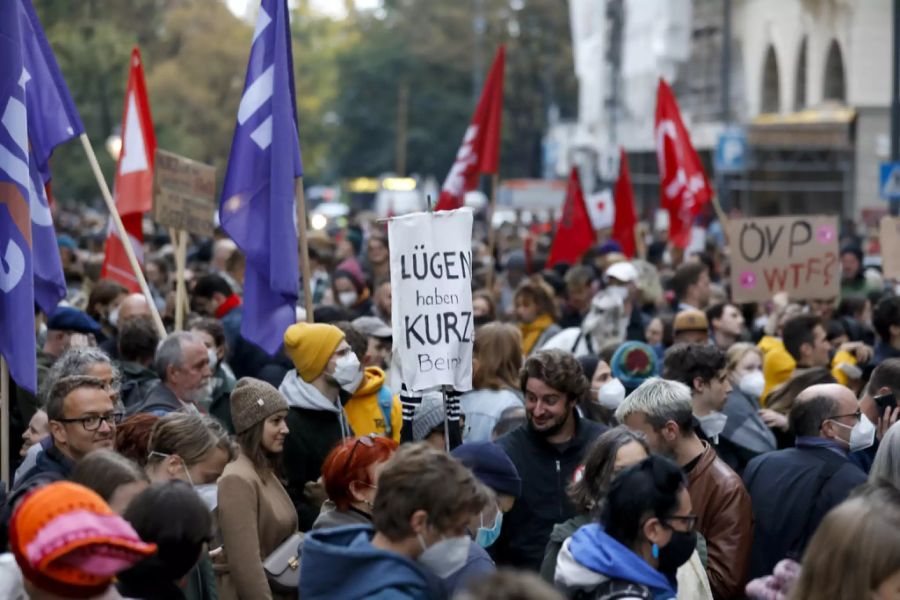
[{"label": "balding man with glasses, white mask and dark navy jacket", "polygon": [[848,454],[872,445],[875,426],[853,392],[835,383],[811,386],[788,419],[795,447],[758,456],[744,471],[756,517],[751,577],[768,575],[783,558],[799,560],[825,513],[866,482]]}]

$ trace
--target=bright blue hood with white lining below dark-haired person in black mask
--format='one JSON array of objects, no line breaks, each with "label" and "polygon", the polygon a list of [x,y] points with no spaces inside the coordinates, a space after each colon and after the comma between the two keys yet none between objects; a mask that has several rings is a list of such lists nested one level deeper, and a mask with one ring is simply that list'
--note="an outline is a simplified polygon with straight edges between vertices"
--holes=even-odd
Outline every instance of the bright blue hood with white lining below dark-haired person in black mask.
[{"label": "bright blue hood with white lining below dark-haired person in black mask", "polygon": [[563,543],[556,563],[556,582],[569,588],[590,589],[607,579],[646,586],[657,600],[674,598],[666,576],[593,523]]}]

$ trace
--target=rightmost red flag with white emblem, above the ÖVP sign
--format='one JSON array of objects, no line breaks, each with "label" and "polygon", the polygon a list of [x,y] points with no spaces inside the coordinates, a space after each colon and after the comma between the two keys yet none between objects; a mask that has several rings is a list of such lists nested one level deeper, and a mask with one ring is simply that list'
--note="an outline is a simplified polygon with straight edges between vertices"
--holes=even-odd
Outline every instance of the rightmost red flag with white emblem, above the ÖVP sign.
[{"label": "rightmost red flag with white emblem, above the \u00d6VP sign", "polygon": [[712,188],[681,121],[672,89],[662,78],[656,94],[656,160],[660,204],[669,211],[669,241],[676,248],[687,248],[691,225],[712,198]]}]

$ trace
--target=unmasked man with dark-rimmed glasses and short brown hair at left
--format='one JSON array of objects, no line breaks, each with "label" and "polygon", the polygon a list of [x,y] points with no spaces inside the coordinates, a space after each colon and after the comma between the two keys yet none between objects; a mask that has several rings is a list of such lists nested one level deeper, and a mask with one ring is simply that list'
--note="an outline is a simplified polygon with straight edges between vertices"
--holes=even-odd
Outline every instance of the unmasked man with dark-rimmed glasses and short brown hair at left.
[{"label": "unmasked man with dark-rimmed glasses and short brown hair at left", "polygon": [[35,487],[68,479],[75,463],[92,450],[113,449],[116,425],[122,421],[107,383],[89,375],[58,379],[47,394],[44,409],[52,444],[17,483],[10,506]]}]

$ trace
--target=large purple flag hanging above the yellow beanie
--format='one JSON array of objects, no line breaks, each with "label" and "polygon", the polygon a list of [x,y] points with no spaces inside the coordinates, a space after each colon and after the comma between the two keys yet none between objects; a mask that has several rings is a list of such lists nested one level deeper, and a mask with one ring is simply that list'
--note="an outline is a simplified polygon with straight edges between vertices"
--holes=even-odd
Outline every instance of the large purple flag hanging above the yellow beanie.
[{"label": "large purple flag hanging above the yellow beanie", "polygon": [[219,204],[222,229],[247,257],[241,335],[274,354],[296,321],[297,137],[286,0],[262,0]]}]

